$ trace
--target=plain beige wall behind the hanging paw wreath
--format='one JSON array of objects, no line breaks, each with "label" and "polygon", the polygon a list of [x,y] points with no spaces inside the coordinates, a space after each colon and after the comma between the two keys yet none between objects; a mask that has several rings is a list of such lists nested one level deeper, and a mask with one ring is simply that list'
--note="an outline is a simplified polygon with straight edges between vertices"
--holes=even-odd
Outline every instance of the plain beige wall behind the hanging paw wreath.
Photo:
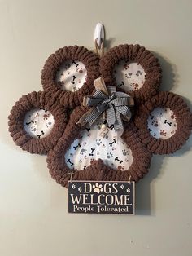
[{"label": "plain beige wall behind the hanging paw wreath", "polygon": [[192,138],[173,156],[153,157],[129,217],[67,214],[67,190],[50,179],[46,157],[22,152],[7,132],[15,100],[41,90],[47,56],[71,44],[93,48],[98,22],[111,46],[155,51],[162,88],[190,104],[191,11],[191,0],[0,0],[0,255],[192,255]]}]

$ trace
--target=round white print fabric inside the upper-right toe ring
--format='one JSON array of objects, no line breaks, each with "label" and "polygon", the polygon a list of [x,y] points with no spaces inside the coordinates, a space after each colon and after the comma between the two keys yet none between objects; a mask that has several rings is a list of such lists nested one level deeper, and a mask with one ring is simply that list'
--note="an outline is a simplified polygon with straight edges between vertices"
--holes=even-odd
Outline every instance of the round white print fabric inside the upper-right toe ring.
[{"label": "round white print fabric inside the upper-right toe ring", "polygon": [[140,64],[121,60],[113,69],[116,84],[125,91],[138,90],[145,82],[146,73]]}]

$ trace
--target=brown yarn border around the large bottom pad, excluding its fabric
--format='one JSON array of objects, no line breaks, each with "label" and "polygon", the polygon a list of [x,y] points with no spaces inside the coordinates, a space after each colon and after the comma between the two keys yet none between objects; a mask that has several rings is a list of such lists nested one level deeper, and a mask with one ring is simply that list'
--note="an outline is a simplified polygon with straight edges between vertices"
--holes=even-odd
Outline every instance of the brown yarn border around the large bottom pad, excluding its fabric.
[{"label": "brown yarn border around the large bottom pad, excluding its fabric", "polygon": [[113,170],[106,166],[101,159],[94,160],[85,170],[71,170],[65,163],[64,155],[72,142],[78,138],[81,128],[76,125],[79,118],[87,111],[88,108],[77,107],[73,111],[68,126],[64,131],[63,137],[59,139],[54,149],[51,149],[47,156],[47,164],[50,175],[57,183],[67,187],[68,180],[132,180],[142,179],[148,172],[151,162],[151,152],[149,152],[140,142],[137,136],[137,129],[133,123],[125,126],[122,138],[129,144],[132,151],[133,163],[129,170]]}]

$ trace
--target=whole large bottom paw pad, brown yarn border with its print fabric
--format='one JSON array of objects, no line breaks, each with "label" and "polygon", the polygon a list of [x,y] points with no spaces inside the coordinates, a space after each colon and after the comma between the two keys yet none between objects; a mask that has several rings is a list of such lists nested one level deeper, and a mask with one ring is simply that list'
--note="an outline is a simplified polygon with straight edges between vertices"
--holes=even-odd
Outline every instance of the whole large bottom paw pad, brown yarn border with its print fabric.
[{"label": "whole large bottom paw pad, brown yarn border with its print fabric", "polygon": [[140,142],[133,122],[125,124],[122,137],[110,130],[103,139],[101,124],[84,131],[76,125],[87,110],[77,107],[73,111],[63,137],[48,153],[51,176],[63,186],[67,186],[71,177],[81,180],[129,180],[129,176],[135,181],[142,179],[148,172],[151,152]]}]

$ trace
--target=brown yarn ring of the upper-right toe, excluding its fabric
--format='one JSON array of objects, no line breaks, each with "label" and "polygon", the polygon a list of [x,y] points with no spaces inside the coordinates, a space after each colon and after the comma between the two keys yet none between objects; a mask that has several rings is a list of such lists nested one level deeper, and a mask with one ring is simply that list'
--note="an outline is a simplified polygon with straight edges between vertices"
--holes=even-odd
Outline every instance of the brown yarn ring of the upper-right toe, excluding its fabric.
[{"label": "brown yarn ring of the upper-right toe, excluding its fabric", "polygon": [[100,73],[108,86],[117,86],[116,77],[113,76],[113,68],[120,60],[133,61],[142,65],[146,77],[142,87],[138,90],[129,91],[137,104],[141,104],[159,90],[162,77],[162,69],[159,60],[146,50],[145,47],[136,45],[120,45],[111,48],[100,60]]}]

